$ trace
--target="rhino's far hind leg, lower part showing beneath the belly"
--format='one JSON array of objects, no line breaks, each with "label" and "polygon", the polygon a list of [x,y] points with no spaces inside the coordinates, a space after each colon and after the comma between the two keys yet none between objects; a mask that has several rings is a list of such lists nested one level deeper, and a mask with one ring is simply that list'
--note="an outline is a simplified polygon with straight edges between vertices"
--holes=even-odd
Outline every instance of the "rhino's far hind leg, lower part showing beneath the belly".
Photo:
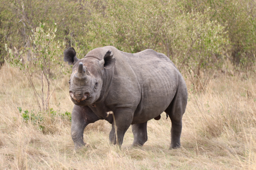
[{"label": "rhino's far hind leg, lower part showing beneath the belly", "polygon": [[147,121],[132,125],[134,140],[132,147],[142,146],[148,140]]}]

